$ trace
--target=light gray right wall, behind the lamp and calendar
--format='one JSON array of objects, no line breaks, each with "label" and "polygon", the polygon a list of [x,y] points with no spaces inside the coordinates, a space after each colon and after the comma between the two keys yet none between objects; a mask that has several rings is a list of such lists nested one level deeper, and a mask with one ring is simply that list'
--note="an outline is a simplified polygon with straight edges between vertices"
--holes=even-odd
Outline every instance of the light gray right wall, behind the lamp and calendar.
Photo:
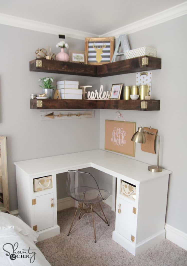
[{"label": "light gray right wall, behind the lamp and calendar", "polygon": [[[162,69],[152,71],[152,99],[160,99],[160,111],[120,111],[126,121],[157,128],[160,139],[160,164],[172,171],[169,178],[166,223],[187,233],[186,213],[186,43],[187,16],[128,35],[131,49],[156,47]],[[134,85],[136,73],[101,78],[107,90],[112,84]],[[105,119],[113,120],[115,110],[100,110],[100,148],[104,149]],[[126,156],[128,157],[128,156]],[[156,164],[156,155],[141,151],[136,144],[135,158]],[[159,197],[159,195],[158,195]]]}]

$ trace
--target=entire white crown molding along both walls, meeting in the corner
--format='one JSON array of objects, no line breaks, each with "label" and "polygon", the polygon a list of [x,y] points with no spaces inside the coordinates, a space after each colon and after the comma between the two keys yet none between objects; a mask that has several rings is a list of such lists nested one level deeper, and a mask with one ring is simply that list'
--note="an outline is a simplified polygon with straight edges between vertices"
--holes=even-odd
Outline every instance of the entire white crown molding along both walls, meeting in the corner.
[{"label": "entire white crown molding along both walls, meeting in the corner", "polygon": [[130,34],[136,31],[140,31],[145,28],[152,27],[154,25],[166,22],[174,18],[178,18],[186,14],[187,14],[187,1],[180,5],[166,9],[160,13],[156,13],[152,16],[148,16],[147,18],[138,20],[136,22],[125,25],[121,28],[117,28],[116,30],[107,32],[102,35],[96,35],[96,34],[92,34],[89,32],[73,30],[70,28],[60,27],[60,26],[43,23],[43,22],[39,22],[35,20],[30,20],[30,19],[19,18],[16,16],[11,16],[11,15],[2,14],[2,13],[0,13],[0,24],[24,28],[24,29],[33,30],[33,31],[40,31],[40,32],[45,32],[45,33],[55,34],[55,35],[62,33],[62,34],[65,34],[66,37],[84,40],[86,37],[89,37],[89,36],[90,37],[114,36],[115,38],[118,38],[119,35],[121,34]]}]

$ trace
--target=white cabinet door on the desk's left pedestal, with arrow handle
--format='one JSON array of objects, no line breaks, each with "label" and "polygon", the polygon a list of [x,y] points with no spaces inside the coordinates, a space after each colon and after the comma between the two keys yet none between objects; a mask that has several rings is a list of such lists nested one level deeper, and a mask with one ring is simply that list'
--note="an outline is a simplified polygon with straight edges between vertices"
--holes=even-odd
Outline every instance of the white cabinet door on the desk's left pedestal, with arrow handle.
[{"label": "white cabinet door on the desk's left pedestal, with arrow handle", "polygon": [[53,193],[36,197],[34,215],[37,231],[54,226],[54,208],[51,207],[51,199],[53,199]]}]

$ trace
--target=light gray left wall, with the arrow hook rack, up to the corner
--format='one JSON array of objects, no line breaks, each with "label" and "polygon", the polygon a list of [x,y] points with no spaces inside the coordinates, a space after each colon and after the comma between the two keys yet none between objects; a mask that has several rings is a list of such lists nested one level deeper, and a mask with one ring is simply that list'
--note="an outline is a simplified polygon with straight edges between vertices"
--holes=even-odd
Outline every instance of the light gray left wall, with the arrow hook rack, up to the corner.
[{"label": "light gray left wall, with the arrow hook rack, up to the corner", "polygon": [[[13,162],[99,148],[99,110],[95,118],[40,121],[40,111],[30,109],[30,94],[41,93],[38,79],[78,80],[99,88],[100,79],[29,72],[37,48],[56,48],[58,36],[0,25],[0,135],[7,136],[10,210],[18,209]],[[67,38],[71,49],[84,50],[84,41]]]}]

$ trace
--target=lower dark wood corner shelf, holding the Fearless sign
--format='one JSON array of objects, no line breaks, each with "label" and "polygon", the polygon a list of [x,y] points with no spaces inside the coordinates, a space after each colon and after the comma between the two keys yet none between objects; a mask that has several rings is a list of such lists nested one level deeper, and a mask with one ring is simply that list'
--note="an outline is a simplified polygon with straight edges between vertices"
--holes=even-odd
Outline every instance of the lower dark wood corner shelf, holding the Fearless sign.
[{"label": "lower dark wood corner shelf, holding the Fearless sign", "polygon": [[[147,108],[141,107],[147,102]],[[135,111],[159,111],[160,100],[30,100],[31,109],[117,109]],[[37,106],[41,107],[37,107]],[[145,107],[145,106],[144,106]]]}]

